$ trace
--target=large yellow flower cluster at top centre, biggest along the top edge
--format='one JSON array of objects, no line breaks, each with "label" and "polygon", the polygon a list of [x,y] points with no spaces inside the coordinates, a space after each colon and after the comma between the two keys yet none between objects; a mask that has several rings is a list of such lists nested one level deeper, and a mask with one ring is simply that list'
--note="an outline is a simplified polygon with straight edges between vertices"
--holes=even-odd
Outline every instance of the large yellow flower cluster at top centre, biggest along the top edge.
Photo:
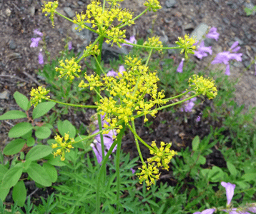
[{"label": "large yellow flower cluster at top centre, biggest along the top edge", "polygon": [[[116,0],[112,1],[113,5],[117,4]],[[118,4],[117,4],[118,6]],[[77,14],[77,17],[74,19],[74,24],[77,24],[79,31],[84,29],[85,23],[91,23],[92,28],[97,26],[97,33],[99,35],[105,35],[109,37],[106,41],[117,42],[117,45],[120,46],[119,42],[121,39],[125,38],[125,30],[120,30],[118,27],[112,26],[114,19],[120,21],[120,24],[135,24],[132,21],[132,13],[127,9],[119,9],[117,6],[112,6],[111,9],[102,9],[102,6],[99,1],[92,1],[91,4],[87,6],[86,14]],[[120,25],[119,24],[119,25]],[[110,29],[108,29],[111,27]]]}]

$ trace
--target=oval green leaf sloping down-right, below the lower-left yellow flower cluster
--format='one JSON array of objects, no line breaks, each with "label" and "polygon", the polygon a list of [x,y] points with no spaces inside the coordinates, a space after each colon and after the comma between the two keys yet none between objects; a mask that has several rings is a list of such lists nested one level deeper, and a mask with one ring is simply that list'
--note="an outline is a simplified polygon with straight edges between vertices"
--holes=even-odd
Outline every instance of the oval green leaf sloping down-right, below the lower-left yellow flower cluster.
[{"label": "oval green leaf sloping down-right, below the lower-left yellow flower cluster", "polygon": [[51,186],[51,178],[46,173],[46,170],[37,163],[31,163],[27,170],[30,178],[32,178],[36,183],[44,186]]}]

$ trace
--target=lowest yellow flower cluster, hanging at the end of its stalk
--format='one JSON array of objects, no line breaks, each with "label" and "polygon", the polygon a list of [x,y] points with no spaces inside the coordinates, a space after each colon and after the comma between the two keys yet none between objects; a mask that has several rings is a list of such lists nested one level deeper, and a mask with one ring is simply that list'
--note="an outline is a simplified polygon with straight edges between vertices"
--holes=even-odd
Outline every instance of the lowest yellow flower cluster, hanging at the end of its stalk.
[{"label": "lowest yellow flower cluster, hanging at the end of its stalk", "polygon": [[136,175],[139,176],[139,183],[145,180],[148,186],[147,190],[149,190],[150,185],[154,184],[155,180],[158,180],[160,177],[159,169],[154,163],[148,163],[148,165],[144,163],[139,170],[142,170],[140,173],[136,173]]}]

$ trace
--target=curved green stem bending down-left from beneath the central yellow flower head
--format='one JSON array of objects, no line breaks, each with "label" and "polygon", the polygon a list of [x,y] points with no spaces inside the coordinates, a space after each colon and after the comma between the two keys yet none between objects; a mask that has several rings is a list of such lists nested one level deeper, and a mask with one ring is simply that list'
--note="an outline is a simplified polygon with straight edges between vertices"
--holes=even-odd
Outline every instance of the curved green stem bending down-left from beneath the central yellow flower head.
[{"label": "curved green stem bending down-left from beneath the central yellow flower head", "polygon": [[102,166],[99,168],[99,173],[97,176],[97,185],[96,185],[96,214],[99,214],[100,211],[100,195],[99,195],[99,188],[100,188],[100,181],[102,178],[102,173],[104,173],[104,169],[106,169],[106,163],[107,160],[109,159],[109,156],[111,155],[114,147],[122,141],[122,136],[124,135],[124,129],[125,126],[123,126],[123,128],[121,129],[121,131],[119,132],[119,134],[117,135],[117,139],[114,141],[114,143],[112,143],[112,146],[110,146],[109,151],[107,152],[106,156],[103,158],[102,160]]}]

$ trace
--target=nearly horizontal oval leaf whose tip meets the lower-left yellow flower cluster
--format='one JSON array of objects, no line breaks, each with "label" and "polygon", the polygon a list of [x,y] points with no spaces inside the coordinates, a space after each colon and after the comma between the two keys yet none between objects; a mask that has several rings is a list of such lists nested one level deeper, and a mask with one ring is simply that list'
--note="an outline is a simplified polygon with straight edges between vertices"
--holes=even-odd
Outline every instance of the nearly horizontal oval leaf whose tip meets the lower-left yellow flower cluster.
[{"label": "nearly horizontal oval leaf whose tip meets the lower-left yellow flower cluster", "polygon": [[37,145],[26,154],[26,160],[36,161],[48,156],[52,152],[51,146]]}]

